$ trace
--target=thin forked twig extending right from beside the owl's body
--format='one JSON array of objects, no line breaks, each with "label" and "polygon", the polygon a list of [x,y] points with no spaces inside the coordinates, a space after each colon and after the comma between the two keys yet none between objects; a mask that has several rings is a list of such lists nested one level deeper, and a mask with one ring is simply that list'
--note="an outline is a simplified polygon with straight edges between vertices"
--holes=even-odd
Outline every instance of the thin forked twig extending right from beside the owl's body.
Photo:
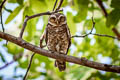
[{"label": "thin forked twig extending right from beside the owl's body", "polygon": [[88,35],[95,35],[95,36],[109,37],[109,38],[113,38],[113,39],[118,39],[118,40],[120,40],[118,37],[114,37],[114,36],[110,36],[110,35],[106,35],[106,34],[92,33],[92,32],[93,32],[93,29],[95,28],[95,22],[94,22],[93,17],[92,17],[92,23],[93,23],[92,29],[91,29],[91,31],[90,31],[88,34],[81,35],[81,36],[79,36],[79,35],[74,35],[74,36],[72,36],[71,38],[74,38],[74,37],[82,37],[82,38],[84,38],[84,37],[87,37]]}]

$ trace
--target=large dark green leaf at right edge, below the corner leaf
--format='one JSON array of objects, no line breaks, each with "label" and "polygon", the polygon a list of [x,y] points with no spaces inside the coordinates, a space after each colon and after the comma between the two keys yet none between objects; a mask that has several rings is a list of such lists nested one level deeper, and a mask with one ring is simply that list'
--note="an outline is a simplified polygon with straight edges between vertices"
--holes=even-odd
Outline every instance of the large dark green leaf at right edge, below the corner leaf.
[{"label": "large dark green leaf at right edge, below the corner leaf", "polygon": [[107,17],[106,26],[115,27],[115,25],[118,23],[119,20],[120,20],[120,9],[114,9],[109,13]]}]

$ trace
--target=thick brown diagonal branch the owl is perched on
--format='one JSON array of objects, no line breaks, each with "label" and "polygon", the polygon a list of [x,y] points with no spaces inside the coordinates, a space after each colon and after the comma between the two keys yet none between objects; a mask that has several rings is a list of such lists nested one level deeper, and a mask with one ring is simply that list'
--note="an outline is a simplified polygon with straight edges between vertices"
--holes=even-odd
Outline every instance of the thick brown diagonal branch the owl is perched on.
[{"label": "thick brown diagonal branch the owl is perched on", "polygon": [[34,53],[37,53],[37,54],[40,54],[43,56],[47,56],[47,57],[54,58],[54,59],[61,59],[63,61],[83,65],[83,66],[94,68],[97,70],[120,73],[120,66],[102,64],[102,63],[98,63],[98,62],[94,62],[94,61],[89,61],[83,57],[78,58],[78,57],[74,57],[74,56],[59,54],[57,52],[50,52],[48,50],[41,49],[40,47],[30,44],[30,43],[22,40],[19,37],[15,37],[10,34],[3,33],[1,31],[0,31],[0,38],[8,40],[14,44],[17,44],[23,48],[26,48]]}]

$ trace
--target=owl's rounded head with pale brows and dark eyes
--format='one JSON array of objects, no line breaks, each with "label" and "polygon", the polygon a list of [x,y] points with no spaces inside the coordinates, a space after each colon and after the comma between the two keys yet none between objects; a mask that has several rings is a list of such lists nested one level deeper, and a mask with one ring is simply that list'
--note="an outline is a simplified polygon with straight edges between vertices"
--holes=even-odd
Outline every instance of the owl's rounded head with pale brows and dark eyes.
[{"label": "owl's rounded head with pale brows and dark eyes", "polygon": [[50,15],[48,23],[53,26],[62,26],[66,24],[67,22],[66,22],[66,17],[64,14],[54,13]]}]

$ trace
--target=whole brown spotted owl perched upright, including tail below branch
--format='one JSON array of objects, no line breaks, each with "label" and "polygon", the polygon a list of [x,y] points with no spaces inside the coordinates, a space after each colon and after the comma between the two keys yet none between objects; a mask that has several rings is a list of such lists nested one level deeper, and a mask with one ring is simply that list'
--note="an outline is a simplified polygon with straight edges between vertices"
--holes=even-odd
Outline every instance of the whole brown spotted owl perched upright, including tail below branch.
[{"label": "whole brown spotted owl perched upright, including tail below branch", "polygon": [[[66,55],[71,45],[71,35],[64,14],[54,13],[50,15],[46,29],[40,39],[40,47],[45,40],[48,50]],[[55,60],[55,67],[59,71],[66,69],[66,62],[60,59]]]}]

